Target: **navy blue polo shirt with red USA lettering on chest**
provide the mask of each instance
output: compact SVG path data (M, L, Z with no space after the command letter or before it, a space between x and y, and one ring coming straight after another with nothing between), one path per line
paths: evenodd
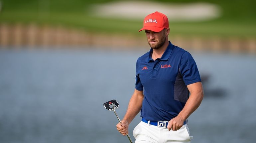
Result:
M138 58L136 86L144 99L141 117L151 121L170 121L189 98L187 85L200 82L192 55L170 41L161 58L152 59L153 49Z

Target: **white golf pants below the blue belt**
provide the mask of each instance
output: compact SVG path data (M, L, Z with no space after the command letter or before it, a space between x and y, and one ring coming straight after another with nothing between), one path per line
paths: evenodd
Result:
M188 124L183 125L179 130L173 131L140 122L133 130L135 143L190 143L193 138L189 134Z

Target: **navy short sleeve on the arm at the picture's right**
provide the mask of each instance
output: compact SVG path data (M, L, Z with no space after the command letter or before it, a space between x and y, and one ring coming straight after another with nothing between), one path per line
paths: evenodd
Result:
M201 81L196 63L189 52L182 55L180 73L186 86Z

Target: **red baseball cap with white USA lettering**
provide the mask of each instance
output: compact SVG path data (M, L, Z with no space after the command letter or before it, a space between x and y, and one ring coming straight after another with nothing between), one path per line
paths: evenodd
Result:
M160 12L154 12L145 17L143 22L143 28L139 30L151 30L154 32L160 32L164 28L169 27L169 21L166 15Z

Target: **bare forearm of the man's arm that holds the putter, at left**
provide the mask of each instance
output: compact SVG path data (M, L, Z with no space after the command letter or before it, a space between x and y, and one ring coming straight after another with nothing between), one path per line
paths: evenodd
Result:
M132 122L134 117L140 112L143 101L143 92L135 90L130 102L128 104L127 112L123 120L126 120L129 124Z

